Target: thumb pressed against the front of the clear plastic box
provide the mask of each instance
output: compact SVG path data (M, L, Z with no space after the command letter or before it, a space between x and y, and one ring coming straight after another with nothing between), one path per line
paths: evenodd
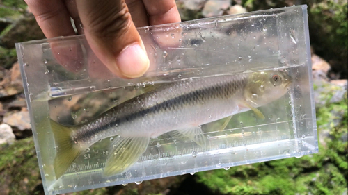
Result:
M117 76L142 76L149 59L125 0L76 2L86 40L97 58Z

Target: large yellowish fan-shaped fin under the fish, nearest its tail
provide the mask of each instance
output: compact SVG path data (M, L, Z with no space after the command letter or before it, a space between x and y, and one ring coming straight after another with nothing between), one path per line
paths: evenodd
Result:
M120 137L113 141L104 168L105 176L127 171L148 147L150 137Z

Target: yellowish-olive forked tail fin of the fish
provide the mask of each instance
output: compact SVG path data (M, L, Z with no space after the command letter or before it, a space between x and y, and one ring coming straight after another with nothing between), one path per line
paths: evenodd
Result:
M58 179L84 150L72 141L72 127L63 126L51 119L51 128L56 141L57 154L54 158L54 172Z

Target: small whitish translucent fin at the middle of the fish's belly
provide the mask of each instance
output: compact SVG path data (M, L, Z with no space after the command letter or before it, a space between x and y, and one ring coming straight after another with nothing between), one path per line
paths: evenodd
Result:
M199 126L180 129L173 132L171 135L174 135L175 137L188 137L189 139L191 139L191 141L196 142L199 146L206 146L206 138L203 135L202 128L200 128Z

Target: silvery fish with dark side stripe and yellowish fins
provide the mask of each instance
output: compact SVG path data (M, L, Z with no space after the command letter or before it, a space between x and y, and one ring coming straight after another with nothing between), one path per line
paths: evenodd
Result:
M164 133L180 135L206 145L200 127L240 112L253 110L284 96L292 78L283 70L254 71L243 74L182 79L156 87L129 99L77 126L63 126L50 119L56 143L56 178L101 139L117 136L104 167L105 176L127 171L145 152L151 138Z

